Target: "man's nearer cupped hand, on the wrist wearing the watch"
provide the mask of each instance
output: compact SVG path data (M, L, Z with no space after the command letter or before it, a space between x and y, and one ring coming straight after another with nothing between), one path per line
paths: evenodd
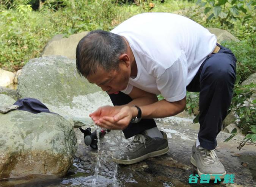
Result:
M96 125L101 128L123 130L126 129L132 120L133 115L136 115L136 108L131 106L124 106L115 116L104 116L100 118Z

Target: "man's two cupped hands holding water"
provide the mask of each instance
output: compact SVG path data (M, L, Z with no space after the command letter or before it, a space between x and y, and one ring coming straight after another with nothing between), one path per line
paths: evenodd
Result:
M132 109L130 106L124 106L123 108L102 106L89 116L101 128L123 130L127 128L132 119Z

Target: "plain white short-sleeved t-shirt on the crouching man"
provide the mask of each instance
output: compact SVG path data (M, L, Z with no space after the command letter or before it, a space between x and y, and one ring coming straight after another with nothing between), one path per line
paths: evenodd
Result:
M186 17L144 13L118 25L112 33L124 36L135 57L138 73L122 92L133 86L179 101L200 65L216 46L216 36Z

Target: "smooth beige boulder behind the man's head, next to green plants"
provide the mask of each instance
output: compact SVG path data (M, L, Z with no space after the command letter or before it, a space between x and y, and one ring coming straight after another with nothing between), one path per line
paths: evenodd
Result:
M72 34L64 37L63 34L54 36L44 47L41 56L62 55L70 59L75 59L77 44L88 32Z

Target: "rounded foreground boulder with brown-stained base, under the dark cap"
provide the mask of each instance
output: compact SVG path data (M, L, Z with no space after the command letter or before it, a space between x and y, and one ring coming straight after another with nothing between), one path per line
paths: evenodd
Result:
M71 123L18 110L0 114L0 122L0 178L67 173L77 149Z

